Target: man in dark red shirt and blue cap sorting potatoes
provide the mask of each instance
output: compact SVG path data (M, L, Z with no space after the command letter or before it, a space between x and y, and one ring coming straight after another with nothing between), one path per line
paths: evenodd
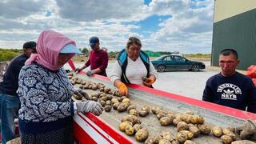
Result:
M99 74L102 76L106 76L106 67L109 61L109 56L106 53L106 50L102 50L99 47L99 39L98 37L91 37L89 39L90 48L90 58L86 62L85 66L81 68L77 68L76 72L80 72L81 70L85 69L86 67L90 66L90 70L87 71L86 75L90 76L92 74Z

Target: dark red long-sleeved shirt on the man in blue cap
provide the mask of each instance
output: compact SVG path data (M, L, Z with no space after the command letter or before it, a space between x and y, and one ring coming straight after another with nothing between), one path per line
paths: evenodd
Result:
M86 62L86 66L90 66L90 70L100 68L102 70L100 75L106 76L106 67L109 61L109 56L105 50L90 51L90 58Z

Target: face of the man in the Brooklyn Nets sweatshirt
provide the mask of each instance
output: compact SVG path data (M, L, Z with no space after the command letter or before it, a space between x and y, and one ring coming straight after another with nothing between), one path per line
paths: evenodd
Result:
M239 64L239 60L234 57L234 54L230 55L220 55L219 66L222 68L222 75L225 77L230 77L235 74L235 68Z

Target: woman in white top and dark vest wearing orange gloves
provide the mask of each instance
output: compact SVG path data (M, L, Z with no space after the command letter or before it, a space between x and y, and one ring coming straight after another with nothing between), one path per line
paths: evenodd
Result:
M118 54L114 62L110 80L118 87L120 95L128 96L126 84L130 83L152 88L158 77L150 58L141 48L142 42L136 37L130 37L126 49Z

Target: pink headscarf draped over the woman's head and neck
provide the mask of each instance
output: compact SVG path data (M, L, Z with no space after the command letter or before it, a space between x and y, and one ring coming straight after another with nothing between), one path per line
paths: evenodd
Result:
M58 70L63 66L58 66L58 54L63 46L70 43L76 46L75 42L67 38L66 35L54 30L44 30L38 37L38 54L31 54L30 58L26 60L25 65L38 62L38 64L50 70ZM73 56L74 54L70 54L70 58Z

